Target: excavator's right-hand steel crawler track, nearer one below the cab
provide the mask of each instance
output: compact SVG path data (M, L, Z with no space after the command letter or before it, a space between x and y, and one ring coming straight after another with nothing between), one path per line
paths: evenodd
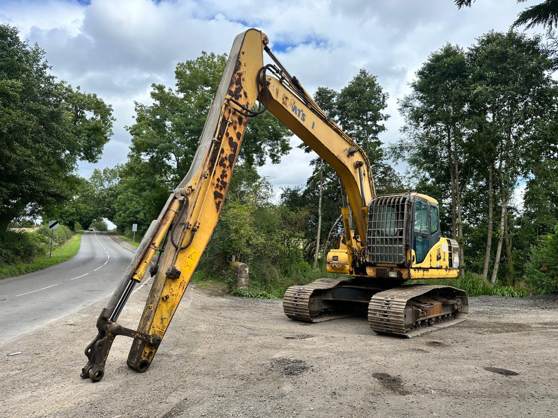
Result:
M440 301L439 305L453 308L440 309L438 304L429 302L428 299L432 296ZM420 299L421 297L426 300ZM444 299L448 302L456 299L458 306L444 303ZM416 306L413 308L413 305ZM430 307L432 312L424 310L424 316L412 318L409 322L408 315L413 313L413 309L427 308L428 305L433 305ZM468 312L468 297L463 290L442 285L399 286L372 297L368 305L368 324L379 334L411 338L462 322Z

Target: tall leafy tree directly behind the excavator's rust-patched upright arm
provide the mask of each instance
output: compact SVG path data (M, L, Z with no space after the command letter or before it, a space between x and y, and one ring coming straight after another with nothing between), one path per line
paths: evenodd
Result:
M127 127L132 145L121 180L126 187L134 187L134 195L124 193L118 198L115 220L120 229L132 224L130 216L156 217L171 189L189 170L226 62L225 54L206 52L180 62L175 89L153 84L153 104L136 103L136 120ZM251 118L237 168L259 167L267 158L280 162L290 150L290 136L290 130L269 112ZM127 201L133 213L126 208Z

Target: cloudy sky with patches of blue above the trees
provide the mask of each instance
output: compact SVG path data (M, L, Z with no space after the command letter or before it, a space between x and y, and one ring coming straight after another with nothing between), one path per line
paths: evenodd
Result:
M452 0L0 0L0 23L39 43L54 75L113 106L117 121L102 158L79 164L79 174L89 177L94 168L126 161L131 137L124 127L133 123L134 101L151 103L153 82L174 87L177 62L201 51L228 53L247 28L266 33L311 94L318 86L340 90L361 68L377 75L391 115L380 138L393 143L403 125L397 100L410 93L408 83L432 51L507 31L517 13L538 2L478 0L458 10ZM311 174L313 155L299 143L293 137L281 164L260 169L276 192L305 184ZM521 199L521 186L516 195Z

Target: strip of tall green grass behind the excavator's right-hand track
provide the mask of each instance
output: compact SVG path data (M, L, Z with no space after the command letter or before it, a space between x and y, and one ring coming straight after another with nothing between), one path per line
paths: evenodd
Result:
M471 297L473 296L504 296L508 298L525 298L529 295L529 291L524 286L504 286L499 283L490 284L488 280L484 280L482 276L474 273L465 273L464 277L448 280L413 280L411 283L423 284L443 284L454 286L455 288L465 290Z

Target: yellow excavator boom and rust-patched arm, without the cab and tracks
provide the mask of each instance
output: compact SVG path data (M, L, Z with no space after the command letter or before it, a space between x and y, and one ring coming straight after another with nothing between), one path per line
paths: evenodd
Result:
M254 29L235 38L192 166L151 223L117 290L99 315L98 335L85 349L88 362L81 377L94 382L103 378L117 335L134 339L129 367L145 372L150 366L219 219L249 117L270 110L335 169L347 192L358 233L365 236L367 202L375 194L368 158L321 111L296 78L288 75L267 43L267 36ZM276 65L264 66L263 51ZM268 76L268 71L277 78ZM252 110L257 100L259 110ZM117 322L118 316L158 250L162 254L151 267L155 278L140 324L137 330L123 327Z

